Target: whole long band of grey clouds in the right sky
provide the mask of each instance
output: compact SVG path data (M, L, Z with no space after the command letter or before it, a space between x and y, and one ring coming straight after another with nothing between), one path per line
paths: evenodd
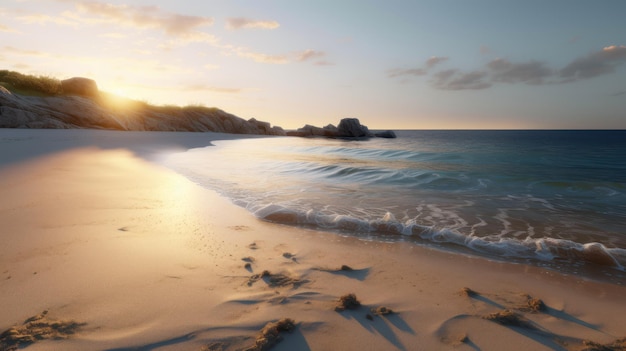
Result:
M431 68L447 61L447 57L433 56L421 67L392 69L390 78L431 75ZM432 74L431 85L436 89L465 90L487 89L495 83L506 84L565 84L597 76L611 74L626 63L626 46L612 45L586 56L576 58L561 69L553 69L546 63L531 60L512 62L497 58L484 67L469 72L446 69Z

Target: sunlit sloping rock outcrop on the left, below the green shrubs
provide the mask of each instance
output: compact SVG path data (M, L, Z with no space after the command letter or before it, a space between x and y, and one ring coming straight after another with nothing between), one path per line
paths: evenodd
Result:
M83 81L84 82L84 81ZM95 82L94 82L95 83ZM105 96L86 97L88 83L76 95L34 97L0 89L0 128L91 128L133 131L220 132L285 135L267 122L248 121L217 108L151 106L127 100L110 103ZM74 89L74 88L70 88ZM82 92L82 93L81 93Z

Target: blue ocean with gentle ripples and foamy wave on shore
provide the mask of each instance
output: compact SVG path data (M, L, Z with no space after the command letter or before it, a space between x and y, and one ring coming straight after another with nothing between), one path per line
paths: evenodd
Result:
M163 162L271 222L626 285L626 131L217 141Z

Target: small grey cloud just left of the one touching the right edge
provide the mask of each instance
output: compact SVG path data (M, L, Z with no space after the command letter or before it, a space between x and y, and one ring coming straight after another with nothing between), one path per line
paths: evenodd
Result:
M491 70L491 80L502 83L527 83L539 85L544 79L553 75L553 70L539 61L512 63L506 59L497 58L487 64Z

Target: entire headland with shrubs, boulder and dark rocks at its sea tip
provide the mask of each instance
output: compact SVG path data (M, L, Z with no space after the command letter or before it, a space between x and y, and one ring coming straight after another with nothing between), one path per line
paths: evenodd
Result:
M254 118L245 120L214 107L155 106L98 89L89 78L56 80L0 71L0 128L109 129L128 131L218 132L367 139L395 138L393 131L371 132L356 118L337 126L305 125L285 131Z

